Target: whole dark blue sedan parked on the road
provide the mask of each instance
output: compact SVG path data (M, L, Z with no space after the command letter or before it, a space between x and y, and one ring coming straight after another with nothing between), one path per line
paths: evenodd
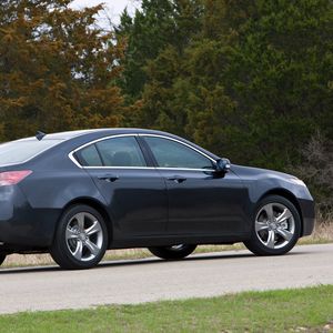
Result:
M89 269L107 249L175 260L236 242L278 255L313 226L297 178L231 164L170 133L39 132L0 145L0 264L49 252L63 269Z

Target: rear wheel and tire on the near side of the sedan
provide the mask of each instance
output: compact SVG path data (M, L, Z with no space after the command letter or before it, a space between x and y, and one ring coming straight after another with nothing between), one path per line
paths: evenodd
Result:
M77 204L63 212L50 254L62 269L91 269L101 261L107 246L108 230L101 214Z

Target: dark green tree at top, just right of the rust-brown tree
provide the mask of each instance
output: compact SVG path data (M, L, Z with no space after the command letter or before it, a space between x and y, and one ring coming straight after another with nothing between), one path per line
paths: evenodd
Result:
M133 18L122 13L117 36L127 41L127 50L120 87L130 101L142 95L148 63L170 46L181 52L200 30L201 10L200 0L143 0Z

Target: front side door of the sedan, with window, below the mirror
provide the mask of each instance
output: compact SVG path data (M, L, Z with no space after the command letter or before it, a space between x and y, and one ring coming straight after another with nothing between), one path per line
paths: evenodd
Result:
M246 191L233 172L169 137L143 135L168 189L169 234L228 235L244 231Z

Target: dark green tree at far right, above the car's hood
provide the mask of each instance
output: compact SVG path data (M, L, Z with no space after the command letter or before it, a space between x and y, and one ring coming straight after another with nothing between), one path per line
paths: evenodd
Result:
M333 135L333 3L230 1L226 14L238 38L224 84L243 121L230 137L243 154L235 158L280 170L297 164L314 129Z

